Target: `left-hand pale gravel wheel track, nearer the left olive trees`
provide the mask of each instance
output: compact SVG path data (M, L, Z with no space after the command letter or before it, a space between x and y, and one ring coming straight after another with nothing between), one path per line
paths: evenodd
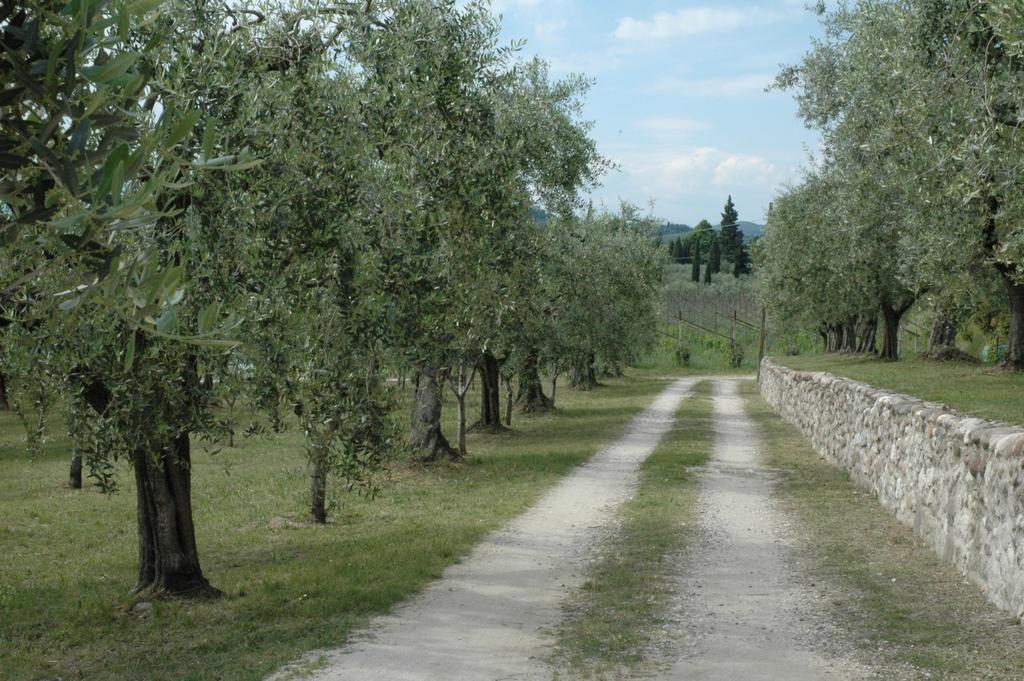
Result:
M640 465L672 426L694 382L672 384L618 440L420 595L376 619L348 647L311 655L328 662L311 678L547 679L543 658L551 640L545 630L558 623L561 601L583 580L589 549L614 522L615 507L633 494Z

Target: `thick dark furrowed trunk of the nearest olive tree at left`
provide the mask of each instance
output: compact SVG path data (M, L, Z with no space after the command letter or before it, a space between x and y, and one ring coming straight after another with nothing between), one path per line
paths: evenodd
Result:
M138 583L135 590L186 596L219 596L203 576L191 512L188 433L160 452L137 451Z

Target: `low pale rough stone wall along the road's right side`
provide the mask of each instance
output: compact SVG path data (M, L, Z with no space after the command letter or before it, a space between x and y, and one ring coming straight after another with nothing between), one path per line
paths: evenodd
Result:
M761 394L995 605L1024 615L1024 428L770 358Z

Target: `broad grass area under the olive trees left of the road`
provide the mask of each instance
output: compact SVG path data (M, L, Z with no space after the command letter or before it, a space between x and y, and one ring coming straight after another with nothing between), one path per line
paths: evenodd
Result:
M461 465L397 466L376 501L338 493L326 526L302 522L307 478L294 429L215 457L197 448L200 554L226 596L156 602L146 614L131 610L128 471L113 496L67 490L67 440L29 459L15 418L2 413L0 677L262 679L308 650L337 646L617 436L667 380L604 384L559 390L557 414L517 417L513 431L471 434ZM450 433L454 411L445 408Z

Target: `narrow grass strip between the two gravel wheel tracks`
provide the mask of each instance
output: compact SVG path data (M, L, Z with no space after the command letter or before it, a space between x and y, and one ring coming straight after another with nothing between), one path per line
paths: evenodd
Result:
M620 526L565 605L556 630L556 668L571 678L620 678L656 659L675 591L671 562L695 527L698 483L688 466L712 451L710 381L683 400L678 420L644 462L636 496Z

